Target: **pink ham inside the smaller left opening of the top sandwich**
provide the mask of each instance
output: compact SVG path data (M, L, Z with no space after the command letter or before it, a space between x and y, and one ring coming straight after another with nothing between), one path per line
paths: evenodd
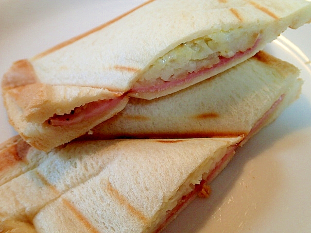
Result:
M78 124L84 120L97 118L107 114L111 109L119 104L124 96L111 100L98 100L86 103L84 106L76 107L70 114L54 115L47 120L52 126L70 126Z

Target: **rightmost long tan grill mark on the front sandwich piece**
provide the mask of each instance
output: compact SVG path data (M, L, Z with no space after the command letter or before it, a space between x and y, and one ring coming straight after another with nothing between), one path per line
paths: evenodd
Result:
M128 209L128 211L130 211L131 214L136 216L140 221L142 221L144 224L147 224L148 221L147 217L144 216L144 214L141 213L134 206L132 206L131 203L128 200L126 200L126 198L122 196L117 189L112 187L112 184L110 182L107 183L107 190L110 193L111 197L118 200L121 205L125 206Z

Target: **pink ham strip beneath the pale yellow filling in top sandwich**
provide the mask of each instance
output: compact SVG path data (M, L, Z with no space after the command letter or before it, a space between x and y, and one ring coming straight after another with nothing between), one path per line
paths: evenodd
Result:
M179 86L179 85L182 85L184 83L189 83L190 81L196 79L197 77L199 77L203 74L207 74L208 72L211 72L212 70L214 70L216 68L225 66L227 63L229 63L233 60L237 60L239 58L242 58L243 56L246 56L246 55L252 53L258 47L259 41L260 41L260 39L257 39L252 48L249 48L248 50L245 50L243 52L239 51L230 58L225 58L223 56L219 56L219 62L217 64L214 64L212 67L203 68L203 69L198 70L198 71L193 71L193 72L185 75L184 78L182 78L182 77L171 78L169 81L164 81L161 78L158 78L154 83L152 83L152 85L146 85L146 86L137 85L137 86L134 86L130 90L130 92L133 92L133 93L139 93L139 92L153 93L153 92L157 92L157 91L167 90L169 88L172 88L174 86Z

